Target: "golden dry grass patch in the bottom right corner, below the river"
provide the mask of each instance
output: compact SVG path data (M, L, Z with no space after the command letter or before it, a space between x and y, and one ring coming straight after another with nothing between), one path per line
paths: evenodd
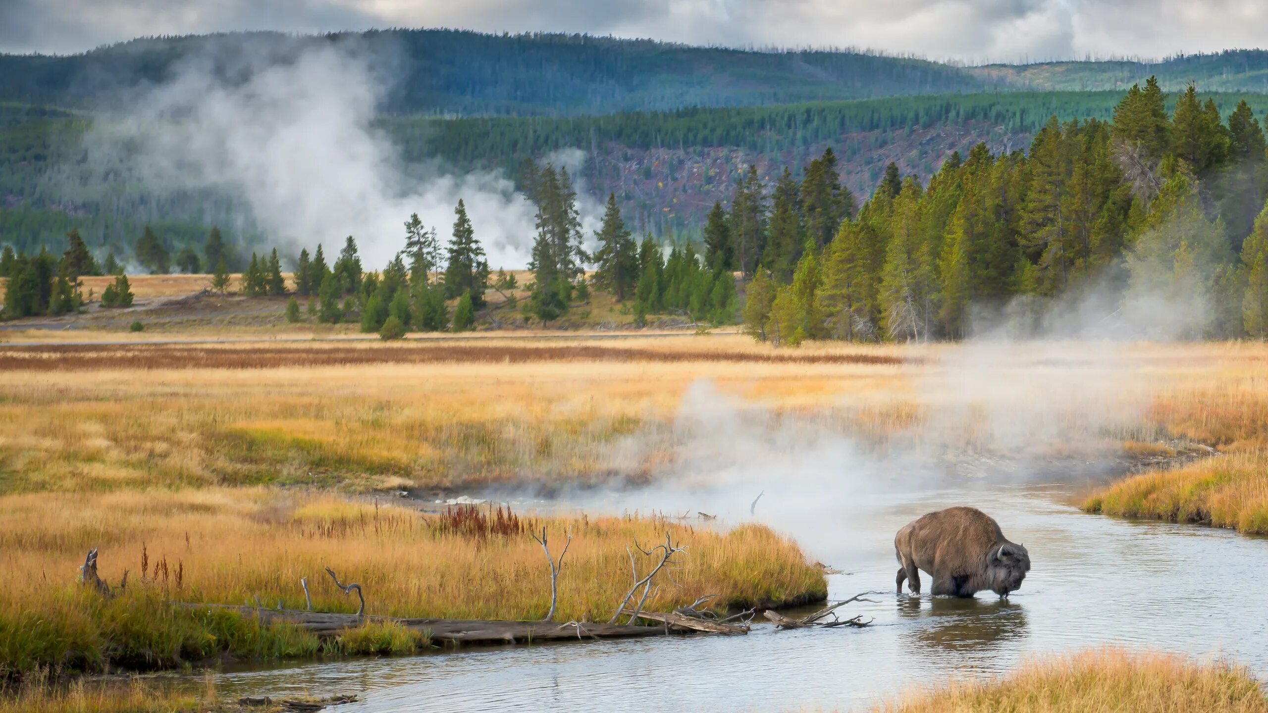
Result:
M954 681L875 713L1264 713L1259 683L1224 661L1092 650L1037 658L1000 679Z

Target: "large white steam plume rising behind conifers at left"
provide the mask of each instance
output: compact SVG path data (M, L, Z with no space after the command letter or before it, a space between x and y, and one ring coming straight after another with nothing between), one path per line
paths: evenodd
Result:
M207 58L190 61L124 115L96 122L85 145L103 171L122 164L151 186L228 194L269 246L321 242L332 255L351 235L366 269L403 247L411 213L446 240L460 198L489 265L525 266L533 206L503 175L404 166L372 124L385 91L374 61L349 47L311 46L293 61L261 58L240 82L217 76Z

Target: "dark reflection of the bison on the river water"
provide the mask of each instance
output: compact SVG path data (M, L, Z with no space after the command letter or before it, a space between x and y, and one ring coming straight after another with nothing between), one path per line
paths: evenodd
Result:
M1008 599L898 598L899 620L912 625L899 642L910 655L927 650L987 653L1026 638L1026 609Z

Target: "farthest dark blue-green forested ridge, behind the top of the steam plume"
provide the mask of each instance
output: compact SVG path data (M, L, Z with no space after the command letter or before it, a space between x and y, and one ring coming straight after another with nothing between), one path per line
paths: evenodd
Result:
M191 65L241 81L336 44L382 67L383 110L568 115L981 91L994 80L862 52L753 52L569 34L393 29L136 39L66 57L0 56L0 101L86 107Z

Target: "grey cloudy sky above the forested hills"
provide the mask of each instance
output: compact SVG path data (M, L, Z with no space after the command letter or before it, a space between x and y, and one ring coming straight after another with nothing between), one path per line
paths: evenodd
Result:
M0 0L0 51L145 34L383 27L588 32L933 60L1163 57L1268 47L1265 0Z

